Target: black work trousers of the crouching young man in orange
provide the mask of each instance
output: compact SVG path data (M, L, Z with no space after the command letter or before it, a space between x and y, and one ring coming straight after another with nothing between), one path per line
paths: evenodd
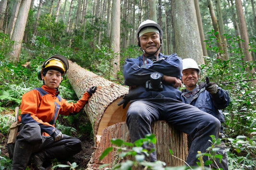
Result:
M51 136L43 136L40 126L36 123L21 125L15 141L12 169L24 169L31 155L37 152L43 151L47 159L66 159L81 149L81 141L78 138L62 135L60 140L54 141Z

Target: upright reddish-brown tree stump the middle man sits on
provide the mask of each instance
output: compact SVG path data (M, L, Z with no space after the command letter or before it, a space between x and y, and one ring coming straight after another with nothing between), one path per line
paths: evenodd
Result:
M184 165L182 160L186 160L188 154L186 135L174 129L166 121L154 122L151 127L153 129L152 133L155 134L157 138L155 148L158 160L165 162L166 166L169 167ZM98 147L96 147L90 162L87 164L86 170L98 170L100 165L106 163L110 164L109 168L111 168L122 161L122 159L118 157L119 152L116 149L99 161L99 157L103 151L107 147L113 147L110 143L110 139L112 138L120 138L125 142L131 142L129 130L125 122L117 123L103 129L101 141L98 143ZM173 151L174 156L180 159L172 157L169 149ZM128 157L128 159L133 158Z

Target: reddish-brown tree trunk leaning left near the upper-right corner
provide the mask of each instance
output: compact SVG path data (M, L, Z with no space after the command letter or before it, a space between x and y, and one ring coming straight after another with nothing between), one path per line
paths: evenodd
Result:
M244 48L244 56L246 61L253 61L253 57L251 55L251 51L249 49L251 48L249 45L249 36L248 31L245 23L244 18L244 11L241 0L235 0L236 10L237 10L237 16L239 20L239 26L241 30L241 38L244 40L242 42L243 48ZM249 70L252 74L255 73L255 68L252 68L252 70ZM256 81L254 82L256 84Z

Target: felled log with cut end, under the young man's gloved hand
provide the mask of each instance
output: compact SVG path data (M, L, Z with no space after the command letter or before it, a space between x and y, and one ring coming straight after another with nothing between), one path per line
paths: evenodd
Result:
M88 87L98 87L84 109L93 125L95 137L100 138L104 128L125 121L128 107L122 109L117 103L128 93L128 88L85 70L76 63L69 63L67 78L78 98L83 96Z

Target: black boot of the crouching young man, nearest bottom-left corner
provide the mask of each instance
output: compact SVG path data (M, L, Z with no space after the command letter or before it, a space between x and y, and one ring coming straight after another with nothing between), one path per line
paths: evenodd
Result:
M16 141L13 151L12 170L25 170L32 154L31 144L22 141Z

